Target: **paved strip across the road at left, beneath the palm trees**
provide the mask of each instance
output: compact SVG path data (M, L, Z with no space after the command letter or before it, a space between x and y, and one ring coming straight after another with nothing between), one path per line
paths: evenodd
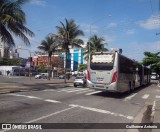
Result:
M56 88L59 86L69 87L73 84L73 79L34 79L31 80L27 77L20 78L6 78L0 77L0 94L20 92L26 90L41 90L46 88Z

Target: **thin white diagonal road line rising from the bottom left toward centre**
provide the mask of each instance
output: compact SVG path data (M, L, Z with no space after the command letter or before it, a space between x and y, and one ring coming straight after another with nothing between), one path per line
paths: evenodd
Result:
M68 111L68 110L71 110L73 108L76 108L75 106L72 106L70 108L66 108L64 110L60 110L60 111L57 111L57 112L54 112L54 113L51 113L51 114L48 114L48 115L45 115L45 116L42 116L42 117L39 117L37 119L33 119L31 121L28 121L28 122L25 122L25 123L33 123L33 122L36 122L36 121L39 121L39 120L42 120L42 119L45 119L45 118L48 118L48 117L51 117L51 116L54 116L54 115L57 115L57 114L60 114L62 112L65 112L65 111Z

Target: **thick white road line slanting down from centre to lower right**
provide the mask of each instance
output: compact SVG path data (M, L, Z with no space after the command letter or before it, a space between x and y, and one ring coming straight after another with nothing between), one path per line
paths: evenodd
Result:
M103 113L103 114L123 117L123 118L127 118L129 120L133 120L134 119L133 116L126 116L126 115L123 115L123 114L118 114L118 113L110 112L110 111L107 111L107 110L102 110L102 109L97 109L97 108L91 108L91 107L85 107L85 106L74 105L74 104L70 104L69 106L80 107L82 109L86 109L86 110L90 110L90 111L94 111L94 112L98 112L98 113Z

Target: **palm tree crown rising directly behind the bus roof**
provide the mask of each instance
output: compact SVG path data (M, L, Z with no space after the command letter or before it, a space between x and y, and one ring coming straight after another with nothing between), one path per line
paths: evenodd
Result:
M85 59L88 60L91 52L107 51L108 49L104 47L107 43L104 43L104 41L102 37L98 37L97 35L91 36L85 48Z

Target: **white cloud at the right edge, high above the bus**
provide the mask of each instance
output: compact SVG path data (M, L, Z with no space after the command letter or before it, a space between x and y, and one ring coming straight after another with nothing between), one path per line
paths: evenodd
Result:
M159 29L160 28L160 16L151 16L147 20L138 21L137 24L145 29Z

